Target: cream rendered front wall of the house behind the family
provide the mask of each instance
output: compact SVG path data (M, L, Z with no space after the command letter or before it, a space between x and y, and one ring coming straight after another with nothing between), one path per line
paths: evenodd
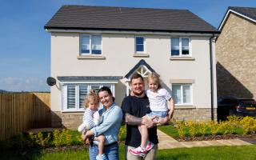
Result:
M51 76L125 76L144 59L168 87L170 79L194 79L194 106L210 108L210 36L186 36L192 45L192 61L170 60L170 35L143 36L148 58L133 56L134 34L102 34L102 55L106 59L78 59L78 33L51 33ZM121 105L126 86L118 82L115 87L116 102ZM51 110L61 110L58 85L51 87Z

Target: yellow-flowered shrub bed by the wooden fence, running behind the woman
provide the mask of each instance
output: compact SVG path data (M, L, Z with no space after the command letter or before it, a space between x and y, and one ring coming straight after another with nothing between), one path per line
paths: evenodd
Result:
M126 138L126 127L122 126L119 140ZM76 130L54 130L53 132L20 133L0 142L0 150L27 150L31 148L47 150L82 150L86 147L81 133Z

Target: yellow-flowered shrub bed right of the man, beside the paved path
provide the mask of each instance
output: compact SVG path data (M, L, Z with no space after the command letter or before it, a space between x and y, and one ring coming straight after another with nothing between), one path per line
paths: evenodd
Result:
M178 141L255 138L256 118L230 116L225 122L171 121L170 126L158 129Z

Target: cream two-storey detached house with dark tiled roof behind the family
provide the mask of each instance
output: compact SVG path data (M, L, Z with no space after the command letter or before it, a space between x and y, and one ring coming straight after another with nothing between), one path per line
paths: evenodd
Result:
M76 128L90 89L109 86L119 106L130 76L157 72L175 101L174 118L216 117L213 26L189 10L62 6L51 34L52 126ZM211 65L213 64L213 65Z

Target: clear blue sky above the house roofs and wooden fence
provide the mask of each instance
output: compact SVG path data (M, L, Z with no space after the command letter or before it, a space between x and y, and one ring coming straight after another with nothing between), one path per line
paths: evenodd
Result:
M256 0L0 0L0 90L50 91L50 33L46 22L62 5L190 10L218 28L228 6Z

